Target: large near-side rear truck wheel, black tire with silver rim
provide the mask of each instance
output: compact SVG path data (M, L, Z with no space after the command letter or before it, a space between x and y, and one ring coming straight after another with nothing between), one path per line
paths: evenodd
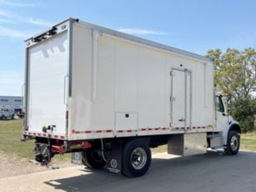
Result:
M130 140L123 148L122 174L128 177L143 176L149 170L151 152L144 139Z

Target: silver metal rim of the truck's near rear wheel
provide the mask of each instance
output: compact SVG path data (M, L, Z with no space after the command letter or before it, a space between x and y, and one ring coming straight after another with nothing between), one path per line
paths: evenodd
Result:
M142 169L147 162L147 153L144 148L135 148L131 152L130 163L136 169Z

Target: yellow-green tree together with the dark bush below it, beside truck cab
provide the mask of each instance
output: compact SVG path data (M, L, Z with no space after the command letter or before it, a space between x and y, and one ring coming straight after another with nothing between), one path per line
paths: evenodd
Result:
M206 57L213 60L217 91L233 98L231 115L239 121L243 132L254 129L256 99L256 51L249 48L239 51L211 49Z

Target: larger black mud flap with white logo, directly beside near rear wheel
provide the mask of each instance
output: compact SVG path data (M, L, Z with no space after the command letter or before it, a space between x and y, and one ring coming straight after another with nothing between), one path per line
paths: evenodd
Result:
M107 158L107 171L121 174L122 142L114 141L111 146L111 155Z

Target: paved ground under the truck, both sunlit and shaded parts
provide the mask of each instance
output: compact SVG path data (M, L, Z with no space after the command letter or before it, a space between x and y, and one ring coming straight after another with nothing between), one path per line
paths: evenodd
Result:
M0 191L255 192L256 152L239 152L235 157L208 152L178 158L159 153L148 173L135 179L73 166L2 178Z

